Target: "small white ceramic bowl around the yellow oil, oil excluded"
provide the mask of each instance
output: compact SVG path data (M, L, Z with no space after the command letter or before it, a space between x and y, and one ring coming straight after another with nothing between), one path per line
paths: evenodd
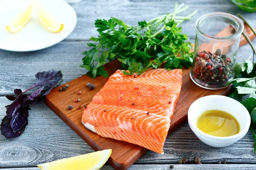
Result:
M240 125L239 133L233 136L218 137L199 130L196 126L198 116L204 111L209 110L221 110L234 116ZM197 99L189 107L188 122L192 131L202 142L212 147L225 147L244 137L250 127L250 114L241 103L230 97L218 95L204 96Z

